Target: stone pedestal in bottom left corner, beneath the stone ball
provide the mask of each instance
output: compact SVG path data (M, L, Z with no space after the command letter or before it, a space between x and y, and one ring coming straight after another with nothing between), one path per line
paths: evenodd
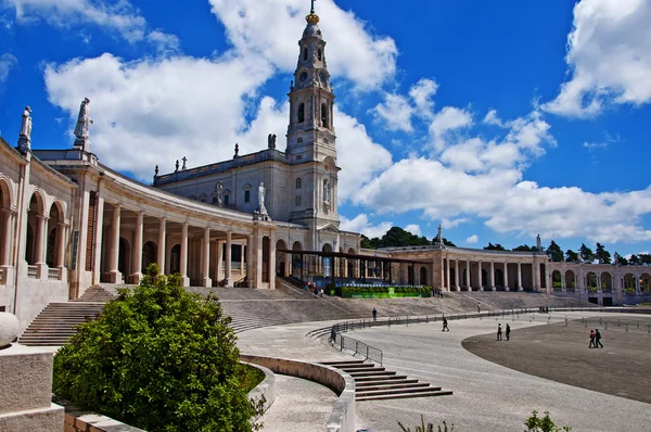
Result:
M0 431L63 431L63 407L51 402L52 357L18 344L0 350Z

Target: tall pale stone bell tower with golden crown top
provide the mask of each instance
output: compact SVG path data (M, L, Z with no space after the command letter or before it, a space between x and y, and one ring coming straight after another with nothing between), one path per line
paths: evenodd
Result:
M297 185L292 221L307 224L315 232L327 225L339 228L337 173L333 125L334 93L326 61L326 41L312 8L298 41L298 62L290 98L288 162ZM301 177L298 179L298 177ZM298 188L298 181L302 187Z

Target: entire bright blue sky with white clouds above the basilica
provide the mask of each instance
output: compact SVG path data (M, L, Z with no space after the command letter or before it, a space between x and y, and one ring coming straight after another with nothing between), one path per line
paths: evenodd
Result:
M342 227L651 250L651 1L317 0ZM0 130L142 181L284 136L308 0L0 0ZM279 148L284 139L279 139Z

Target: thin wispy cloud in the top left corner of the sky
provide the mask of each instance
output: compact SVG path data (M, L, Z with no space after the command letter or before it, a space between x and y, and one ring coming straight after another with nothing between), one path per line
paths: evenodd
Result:
M59 28L93 24L129 42L150 41L161 52L178 49L176 36L150 31L146 20L128 0L4 0L1 7L14 9L18 24L39 20ZM82 37L90 40L88 35Z

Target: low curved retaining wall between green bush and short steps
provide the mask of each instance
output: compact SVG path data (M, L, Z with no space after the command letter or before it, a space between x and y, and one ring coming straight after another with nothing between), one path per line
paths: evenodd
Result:
M276 373L303 378L326 385L339 394L328 419L328 432L355 432L355 381L335 368L285 358L240 355L242 361L260 365Z

